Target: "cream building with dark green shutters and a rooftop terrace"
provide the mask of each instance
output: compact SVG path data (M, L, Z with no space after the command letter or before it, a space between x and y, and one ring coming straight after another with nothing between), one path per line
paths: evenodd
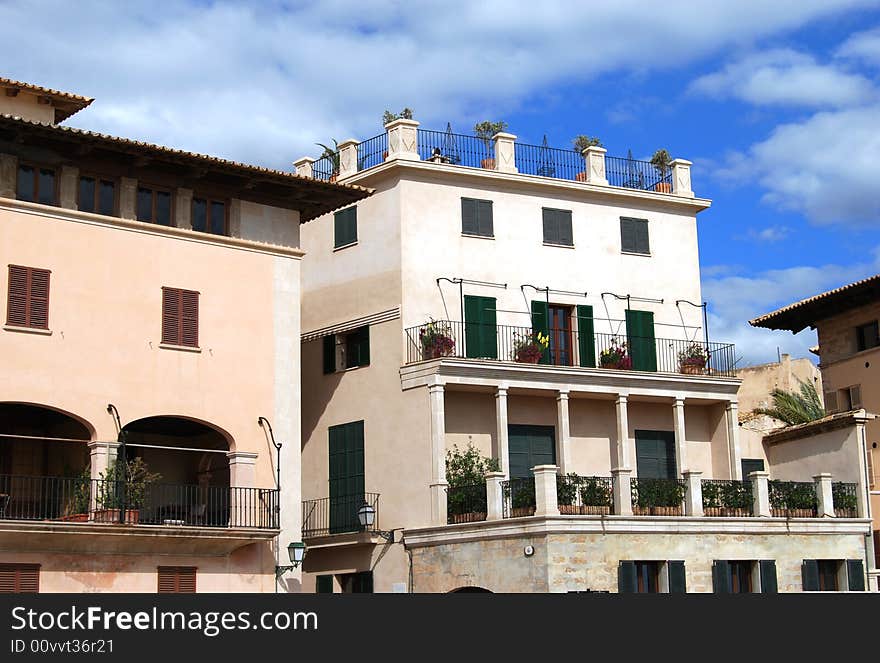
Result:
M865 585L855 487L744 464L690 165L407 119L296 163L375 190L302 229L306 591Z

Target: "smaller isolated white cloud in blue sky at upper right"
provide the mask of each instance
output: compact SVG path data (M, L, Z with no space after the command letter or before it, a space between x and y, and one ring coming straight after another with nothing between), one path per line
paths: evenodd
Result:
M787 49L748 55L698 78L690 90L756 105L842 107L877 98L872 82L864 76Z

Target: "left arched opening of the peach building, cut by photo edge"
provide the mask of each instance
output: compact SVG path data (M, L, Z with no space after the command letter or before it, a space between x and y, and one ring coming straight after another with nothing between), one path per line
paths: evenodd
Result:
M54 519L87 508L92 431L54 408L0 403L0 518Z

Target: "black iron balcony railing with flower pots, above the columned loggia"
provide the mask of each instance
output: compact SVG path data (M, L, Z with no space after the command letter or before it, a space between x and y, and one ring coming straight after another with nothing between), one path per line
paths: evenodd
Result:
M657 373L734 375L736 353L732 344L549 331L550 347L542 353L531 343L535 332L532 327L434 321L406 330L406 363L462 357Z

